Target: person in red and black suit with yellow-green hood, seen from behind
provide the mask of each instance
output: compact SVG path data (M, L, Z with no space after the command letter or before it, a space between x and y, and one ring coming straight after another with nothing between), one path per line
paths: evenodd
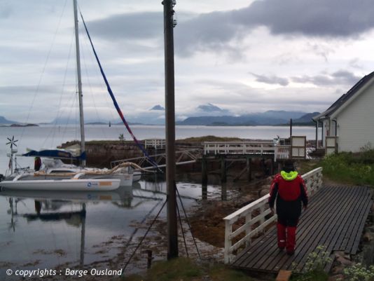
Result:
M301 204L307 209L307 189L302 177L296 172L293 162L286 160L282 171L275 175L270 186L269 206L274 212L277 200L277 239L279 249L286 248L292 255L296 247L296 228L301 215Z

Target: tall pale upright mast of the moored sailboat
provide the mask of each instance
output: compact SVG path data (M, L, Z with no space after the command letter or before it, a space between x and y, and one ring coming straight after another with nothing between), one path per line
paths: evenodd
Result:
M84 130L84 118L83 118L83 93L82 93L82 78L81 78L81 56L79 53L79 34L78 34L78 11L76 0L74 2L74 27L76 34L76 74L78 79L78 101L79 101L79 123L81 127L81 153L85 152L85 130ZM81 162L82 166L85 166L85 160Z

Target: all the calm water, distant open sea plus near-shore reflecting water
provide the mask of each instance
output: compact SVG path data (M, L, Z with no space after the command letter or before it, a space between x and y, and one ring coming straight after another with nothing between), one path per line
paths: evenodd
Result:
M87 126L86 139L118 139L130 135L122 126ZM162 126L132 126L138 139L164 138ZM294 135L314 138L314 128L293 128ZM0 173L8 166L7 137L19 139L18 150L53 148L62 142L78 139L75 126L52 128L0 128ZM246 139L288 137L286 127L205 127L180 126L176 138L216 135ZM18 157L22 166L33 166L32 158ZM177 181L183 204L189 208L201 198L200 179L184 176ZM112 259L120 246L139 240L145 228L139 224L154 216L165 201L165 181L142 179L127 189L109 192L0 192L0 280L19 280L6 275L6 270L92 267ZM230 192L228 191L228 198ZM209 185L209 196L221 196L221 186ZM165 210L161 217L165 217ZM133 238L132 238L133 236ZM120 268L109 268L119 270ZM46 279L46 278L45 278Z

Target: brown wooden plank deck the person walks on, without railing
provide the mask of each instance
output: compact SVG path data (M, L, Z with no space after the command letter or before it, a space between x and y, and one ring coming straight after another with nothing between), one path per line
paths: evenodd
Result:
M356 254L371 205L370 191L364 186L323 186L310 198L308 209L300 217L293 256L278 249L277 231L272 226L242 250L231 266L271 273L280 269L301 272L308 255L319 245L324 245L330 256L334 251ZM326 271L331 265L326 265Z

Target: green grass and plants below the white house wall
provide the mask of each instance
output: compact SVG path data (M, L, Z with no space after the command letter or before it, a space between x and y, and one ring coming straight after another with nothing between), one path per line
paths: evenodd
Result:
M324 177L344 184L374 186L374 149L336 153L321 161Z

